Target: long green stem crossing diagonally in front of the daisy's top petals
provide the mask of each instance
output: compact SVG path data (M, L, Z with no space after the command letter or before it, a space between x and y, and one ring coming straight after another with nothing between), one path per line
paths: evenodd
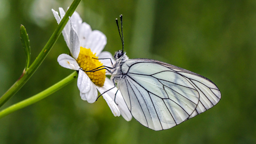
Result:
M74 0L74 2L70 5L67 13L61 20L58 27L55 29L54 33L52 34L51 38L44 46L43 50L39 53L36 60L32 63L32 65L28 68L27 71L25 71L25 70L23 71L23 73L22 73L21 77L18 79L18 81L16 81L12 85L12 87L10 87L10 89L0 98L0 107L2 107L4 105L4 103L12 97L12 95L17 93L20 90L20 88L28 81L28 79L35 73L36 69L41 65L41 63L45 59L46 55L50 52L53 45L59 38L63 28L66 26L66 24L69 20L69 17L71 17L71 15L75 12L76 7L78 6L78 4L80 2L81 2L81 0Z

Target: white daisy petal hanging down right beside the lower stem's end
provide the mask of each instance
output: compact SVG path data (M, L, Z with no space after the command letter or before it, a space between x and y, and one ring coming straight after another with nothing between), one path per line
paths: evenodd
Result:
M84 73L83 70L79 69L77 78L77 87L80 92L87 93L91 90L91 79ZM83 98L82 98L83 99Z

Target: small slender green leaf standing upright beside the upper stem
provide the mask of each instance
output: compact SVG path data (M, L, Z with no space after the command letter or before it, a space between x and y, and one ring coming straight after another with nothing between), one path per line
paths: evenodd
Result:
M29 63L30 63L31 50L30 50L30 45L29 45L28 34L23 25L20 26L20 39L21 39L21 43L22 43L23 49L25 50L25 54L26 54L25 71L27 71L27 69L29 67Z

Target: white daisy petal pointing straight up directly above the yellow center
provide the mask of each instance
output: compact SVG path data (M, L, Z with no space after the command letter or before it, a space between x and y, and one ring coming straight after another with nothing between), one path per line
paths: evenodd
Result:
M80 46L87 48L86 42L88 40L89 35L92 32L92 28L86 22L83 22L79 31L80 33L78 34L78 37L80 41Z

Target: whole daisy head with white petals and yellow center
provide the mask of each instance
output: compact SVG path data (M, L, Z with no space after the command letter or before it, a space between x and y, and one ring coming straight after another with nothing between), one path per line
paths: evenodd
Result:
M57 11L52 10L58 23L60 23L65 15L65 11L61 7L59 8L59 11L60 17ZM79 71L77 86L80 91L80 96L83 100L93 103L98 98L98 91L103 93L114 87L113 82L106 77L106 74L108 73L106 73L105 69L97 70L95 72L85 72L101 66L112 67L109 58L113 62L114 59L111 53L102 52L107 44L107 37L99 30L92 31L90 25L82 22L82 19L77 12L74 12L72 17L69 18L66 27L62 31L62 35L70 50L70 55L59 55L58 62L62 67ZM122 115L126 121L130 121L132 115L124 102L121 92L117 92L116 102L114 101L116 91L117 88L115 87L104 93L102 97L108 103L114 116Z

